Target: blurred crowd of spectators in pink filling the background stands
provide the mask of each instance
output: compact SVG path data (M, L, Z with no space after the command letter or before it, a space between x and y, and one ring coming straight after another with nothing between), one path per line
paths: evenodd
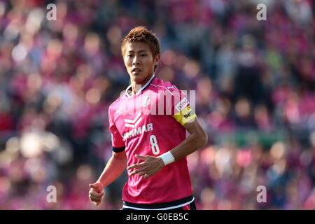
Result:
M120 209L126 173L99 207L88 185L111 157L120 40L137 25L162 43L158 78L196 90L197 209L315 209L314 16L311 0L0 0L0 209Z

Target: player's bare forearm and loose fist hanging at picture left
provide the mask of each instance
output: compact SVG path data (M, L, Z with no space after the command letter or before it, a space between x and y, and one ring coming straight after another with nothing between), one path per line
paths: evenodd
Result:
M103 189L109 186L113 181L116 181L116 179L123 174L126 166L127 157L125 151L120 153L113 152L99 179L95 183L90 184L90 201L99 205L104 195Z

